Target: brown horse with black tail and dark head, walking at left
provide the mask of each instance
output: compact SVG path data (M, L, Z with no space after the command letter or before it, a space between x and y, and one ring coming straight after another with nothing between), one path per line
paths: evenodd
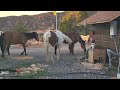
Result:
M1 35L1 51L2 51L2 57L5 57L4 53L7 49L8 55L10 55L9 48L10 45L14 44L21 44L24 48L24 51L21 53L23 55L27 55L26 53L26 42L29 39L36 39L39 41L38 34L36 32L12 32L12 31L6 31Z

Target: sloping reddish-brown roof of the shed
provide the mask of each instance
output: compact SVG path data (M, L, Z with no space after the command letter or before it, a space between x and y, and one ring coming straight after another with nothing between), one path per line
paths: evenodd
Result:
M97 11L96 14L88 17L77 25L97 24L110 22L120 16L120 11Z

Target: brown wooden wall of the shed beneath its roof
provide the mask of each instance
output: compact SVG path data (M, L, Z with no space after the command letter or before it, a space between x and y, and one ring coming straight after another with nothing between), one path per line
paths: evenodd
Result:
M120 25L118 23L117 33L120 36ZM94 26L95 35L93 39L95 40L96 48L109 48L115 50L114 39L110 36L110 23L96 24ZM118 38L116 38L117 42L119 42ZM118 46L119 43L117 43Z

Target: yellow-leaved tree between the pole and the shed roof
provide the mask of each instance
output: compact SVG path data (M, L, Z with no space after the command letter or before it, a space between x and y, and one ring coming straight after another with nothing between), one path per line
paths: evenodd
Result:
M66 11L60 22L60 31L75 31L75 26L80 20L80 11Z

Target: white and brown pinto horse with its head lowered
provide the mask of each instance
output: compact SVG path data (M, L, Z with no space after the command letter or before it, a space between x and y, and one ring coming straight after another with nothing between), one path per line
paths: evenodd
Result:
M67 42L69 45L72 44L72 40L59 30L56 30L55 32L50 30L47 31L43 35L43 40L44 40L44 45L46 47L46 52L47 52L47 61L53 61L53 62L54 62L52 57L53 47L57 45L57 47L59 48L59 51L57 53L57 60L60 60L60 45L63 42Z

